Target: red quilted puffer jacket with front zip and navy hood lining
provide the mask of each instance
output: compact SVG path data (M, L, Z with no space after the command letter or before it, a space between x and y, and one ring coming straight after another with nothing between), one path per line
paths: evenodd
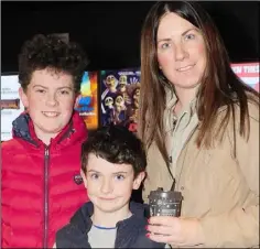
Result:
M80 149L87 129L78 113L46 147L28 113L2 143L2 248L51 248L55 232L88 201Z

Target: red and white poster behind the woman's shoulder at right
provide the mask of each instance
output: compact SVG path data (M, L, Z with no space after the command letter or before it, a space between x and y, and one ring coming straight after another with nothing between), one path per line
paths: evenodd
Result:
M232 71L259 93L259 62L231 64Z

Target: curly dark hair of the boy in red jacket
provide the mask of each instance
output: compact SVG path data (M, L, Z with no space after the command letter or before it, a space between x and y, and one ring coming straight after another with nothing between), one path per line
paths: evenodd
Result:
M47 68L72 75L75 93L78 93L87 64L78 44L66 43L55 35L36 34L23 44L19 54L19 82L25 91L33 72Z

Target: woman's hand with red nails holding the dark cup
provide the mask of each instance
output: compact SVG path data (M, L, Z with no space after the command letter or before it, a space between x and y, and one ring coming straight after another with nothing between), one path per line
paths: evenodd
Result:
M172 247L192 247L205 241L196 218L153 216L149 219L147 230L151 240L170 243Z

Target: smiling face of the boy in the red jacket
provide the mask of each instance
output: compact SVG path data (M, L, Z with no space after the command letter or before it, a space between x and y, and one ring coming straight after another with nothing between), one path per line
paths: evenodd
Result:
M73 76L35 71L26 93L20 88L19 94L39 137L54 137L68 123L75 101Z

